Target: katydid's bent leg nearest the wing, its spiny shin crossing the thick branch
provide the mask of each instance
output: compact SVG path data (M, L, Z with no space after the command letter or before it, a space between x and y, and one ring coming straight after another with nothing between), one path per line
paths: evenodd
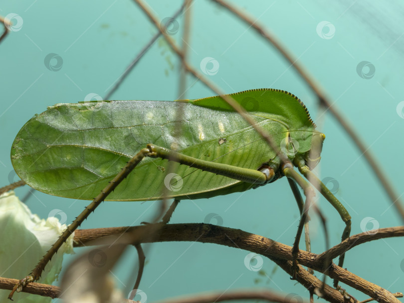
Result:
M304 203L304 207L302 210L302 214L301 214L301 218L300 218L300 222L299 222L299 227L297 228L297 233L296 233L296 238L295 238L295 242L293 243L293 248L292 248L292 258L293 258L293 266L292 266L292 271L293 271L293 275L292 275L292 280L296 280L296 274L299 271L299 266L298 266L298 257L299 257L299 242L300 242L300 237L302 235L303 232L303 227L304 224L306 223L307 220L307 213L309 211L310 208L310 204L313 200L313 198L315 197L315 192L313 187L310 186L310 184L303 179L303 177L298 174L294 169L291 163L285 163L282 164L282 171L283 174L288 177L293 179L294 181L296 181L297 184L299 184L299 186L303 189L303 192L306 196L306 201Z

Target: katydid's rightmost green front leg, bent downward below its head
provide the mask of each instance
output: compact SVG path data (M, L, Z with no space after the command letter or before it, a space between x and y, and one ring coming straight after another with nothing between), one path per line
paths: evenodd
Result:
M342 233L341 241L349 238L351 234L351 216L342 203L332 194L332 192L324 185L323 182L309 169L304 163L304 159L296 157L294 163L297 165L299 171L316 187L316 189L331 203L332 206L338 211L342 220L345 222L345 228ZM338 266L344 265L345 253L342 254L338 261ZM327 266L329 266L327 264ZM334 287L337 288L338 280L334 280Z

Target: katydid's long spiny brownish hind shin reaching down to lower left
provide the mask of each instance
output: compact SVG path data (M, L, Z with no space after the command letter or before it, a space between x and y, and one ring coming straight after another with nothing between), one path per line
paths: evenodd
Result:
M62 235L57 239L57 241L52 245L52 247L46 252L43 258L39 261L33 271L29 276L20 280L16 285L14 285L11 293L8 295L8 299L12 300L12 296L15 291L20 292L22 288L28 283L37 281L46 264L50 261L52 256L59 250L60 246L67 240L67 238L80 226L80 224L89 216L91 212L101 204L102 201L118 186L118 184L125 179L128 174L139 164L139 162L145 156L152 156L153 154L148 149L143 149L138 152L133 158L131 158L128 163L121 169L121 171L115 176L115 178L108 183L108 185L101 190L101 193L81 212L80 215L65 229Z

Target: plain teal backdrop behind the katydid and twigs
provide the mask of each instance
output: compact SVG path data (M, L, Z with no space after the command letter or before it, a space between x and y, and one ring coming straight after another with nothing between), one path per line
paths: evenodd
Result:
M400 105L404 100L404 5L398 0L232 2L273 32L306 67L333 100L333 106L370 147L396 192L402 195L404 113ZM173 15L181 3L149 1L160 19ZM12 12L21 16L23 25L0 44L1 186L13 178L9 152L15 135L27 120L55 103L83 101L90 93L105 96L156 32L132 1L9 1L0 5L1 15ZM179 31L172 37L180 44L183 16L177 21ZM320 37L331 34L327 28L320 35L316 31L322 21L335 27L335 34L329 39ZM336 196L350 212L352 234L377 227L372 227L372 222L366 224L367 217L373 218L380 228L402 224L361 152L328 111L318 110L315 95L259 34L222 7L197 0L192 6L189 44L189 61L200 71L203 58L217 60L217 73L206 77L226 93L278 88L292 92L306 104L327 137L318 173L322 179L336 180L328 186L336 186ZM44 59L49 53L63 59L60 70L46 68ZM369 61L375 67L370 79L362 78L357 72L362 61ZM179 60L160 38L111 99L175 100L179 90L178 69ZM362 69L365 74L370 71L369 66ZM187 78L187 88L185 98L215 95L192 76ZM22 197L27 190L23 187L16 193ZM46 218L53 209L62 210L67 223L81 212L85 203L37 191L27 201L32 212L40 217ZM156 202L104 202L81 228L138 225L151 220L156 206ZM344 223L322 197L319 206L327 217L331 245L336 245ZM204 222L210 213L217 214L217 220L212 219L210 223L222 222L223 226L288 245L293 243L299 218L296 202L283 178L241 194L183 201L171 222ZM323 230L318 217L315 214L311 217L312 251L321 253L325 248ZM285 295L298 294L304 299L309 296L268 259L263 258L260 272L248 270L244 265L246 251L188 242L156 243L145 250L147 264L140 289L149 302L240 288L265 288ZM66 257L65 264L71 260L72 257ZM128 277L136 260L132 248L113 270L118 287L134 284L128 282ZM383 239L356 247L347 253L344 267L393 293L402 292L403 239ZM30 270L27 269L27 274ZM318 273L316 276L321 277ZM367 299L356 290L346 288L358 300Z

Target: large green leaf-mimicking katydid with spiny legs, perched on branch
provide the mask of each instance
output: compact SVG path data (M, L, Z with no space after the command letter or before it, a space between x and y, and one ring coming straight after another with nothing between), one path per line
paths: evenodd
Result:
M74 199L91 200L101 195L101 202L110 193L107 199L114 201L157 200L162 198L162 184L172 189L167 194L170 198L208 198L245 191L286 175L294 181L290 182L292 189L295 182L304 189L308 201L311 186L293 170L293 163L337 209L346 223L342 239L349 237L350 215L311 172L320 160L325 136L315 130L304 104L294 95L275 89L230 96L271 135L290 162L282 162L277 152L219 96L179 100L184 111L180 138L174 137L176 102L56 104L19 131L12 145L11 161L26 184ZM171 172L167 159L175 161ZM125 171L129 173L135 166L124 178ZM181 186L167 183L169 173L181 180L182 184L176 184ZM39 278L64 236L67 238L88 216L89 209L99 204L93 203L84 211L86 214L83 212L70 225L59 244L55 243L25 282ZM302 205L300 211L302 219L293 246L296 268L300 234L306 221ZM340 265L342 262L343 256Z

